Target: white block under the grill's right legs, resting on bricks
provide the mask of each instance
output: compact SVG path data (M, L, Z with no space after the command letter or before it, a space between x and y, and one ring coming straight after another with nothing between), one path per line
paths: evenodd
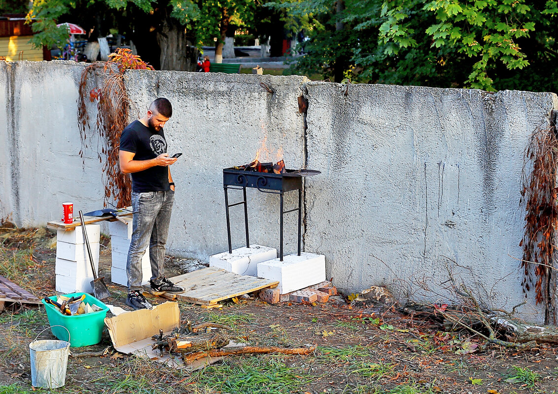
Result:
M304 289L325 280L325 256L302 252L258 264L258 277L279 281L281 294Z

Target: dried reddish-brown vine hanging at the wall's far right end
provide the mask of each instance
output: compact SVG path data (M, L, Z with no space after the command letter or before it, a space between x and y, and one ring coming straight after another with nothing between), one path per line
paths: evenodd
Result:
M556 323L552 283L556 280L558 138L554 111L552 119L549 127L533 132L525 151L521 190L526 213L525 234L519 246L523 248L523 291L529 292L534 285L536 303L542 303L545 308L545 321ZM527 176L529 165L532 170Z

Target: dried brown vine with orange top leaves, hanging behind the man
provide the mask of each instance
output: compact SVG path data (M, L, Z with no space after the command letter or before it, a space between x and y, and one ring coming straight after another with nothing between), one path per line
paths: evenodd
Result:
M124 85L124 72L129 68L153 70L153 67L142 62L140 57L132 55L132 52L126 48L118 48L115 53L109 55L109 58L107 62L92 63L81 72L78 98L80 155L84 157L87 148L86 130L90 129L87 102L97 101L95 128L99 132L102 144L98 152L99 161L103 162L104 159L104 206L114 202L113 205L124 207L131 204L132 191L130 177L121 173L118 163L120 135L128 125L132 110L132 102Z

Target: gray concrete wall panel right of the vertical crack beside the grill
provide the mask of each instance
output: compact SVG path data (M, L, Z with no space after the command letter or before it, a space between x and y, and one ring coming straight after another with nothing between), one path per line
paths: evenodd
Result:
M523 151L556 95L309 83L305 249L344 290L445 298L449 265L484 301L522 301ZM426 291L427 287L432 291ZM531 301L531 300L530 300ZM533 312L532 305L523 312Z

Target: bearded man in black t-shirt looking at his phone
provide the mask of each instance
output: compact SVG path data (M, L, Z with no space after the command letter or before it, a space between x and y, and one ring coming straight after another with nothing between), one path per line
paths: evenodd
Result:
M137 211L126 264L126 304L134 309L153 308L143 296L141 285L141 260L147 246L151 260L151 294L184 291L166 279L163 271L175 189L169 167L177 160L167 154L163 134L163 126L171 116L171 103L160 97L151 103L147 114L129 124L120 137L120 170L132 174L132 208Z

